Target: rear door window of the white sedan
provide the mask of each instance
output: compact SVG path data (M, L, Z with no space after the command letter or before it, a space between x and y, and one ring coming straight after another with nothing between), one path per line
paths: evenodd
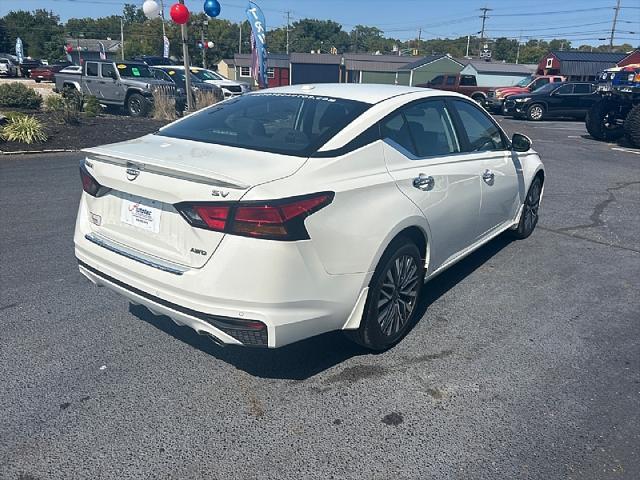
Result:
M410 105L403 113L419 157L460 152L451 117L442 100Z

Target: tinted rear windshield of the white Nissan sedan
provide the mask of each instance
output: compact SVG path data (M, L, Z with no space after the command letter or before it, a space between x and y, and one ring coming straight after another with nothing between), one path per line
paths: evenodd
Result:
M249 94L201 110L158 135L308 157L370 106L314 95Z

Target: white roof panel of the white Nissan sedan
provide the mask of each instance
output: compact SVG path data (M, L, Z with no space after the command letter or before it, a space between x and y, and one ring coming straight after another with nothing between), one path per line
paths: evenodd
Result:
M255 93L285 93L292 95L315 95L320 97L342 98L345 100L355 100L365 103L379 103L389 98L409 93L422 93L424 97L429 96L451 96L461 95L444 90L433 90L430 88L404 87L400 85L377 85L361 83L315 83L306 85L290 85L287 87L269 88Z

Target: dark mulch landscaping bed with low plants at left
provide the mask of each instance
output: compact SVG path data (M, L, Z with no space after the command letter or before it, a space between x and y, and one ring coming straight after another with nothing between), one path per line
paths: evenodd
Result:
M82 116L79 125L66 125L50 113L24 112L38 118L44 125L48 139L44 143L27 145L0 140L0 152L37 152L42 150L80 150L105 143L122 142L153 133L167 121L134 118L124 115Z

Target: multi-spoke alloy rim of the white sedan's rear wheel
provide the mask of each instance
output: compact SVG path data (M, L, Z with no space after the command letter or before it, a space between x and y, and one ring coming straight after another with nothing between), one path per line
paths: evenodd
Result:
M418 295L419 267L415 258L396 258L384 275L378 295L378 324L387 337L402 331L411 317Z

